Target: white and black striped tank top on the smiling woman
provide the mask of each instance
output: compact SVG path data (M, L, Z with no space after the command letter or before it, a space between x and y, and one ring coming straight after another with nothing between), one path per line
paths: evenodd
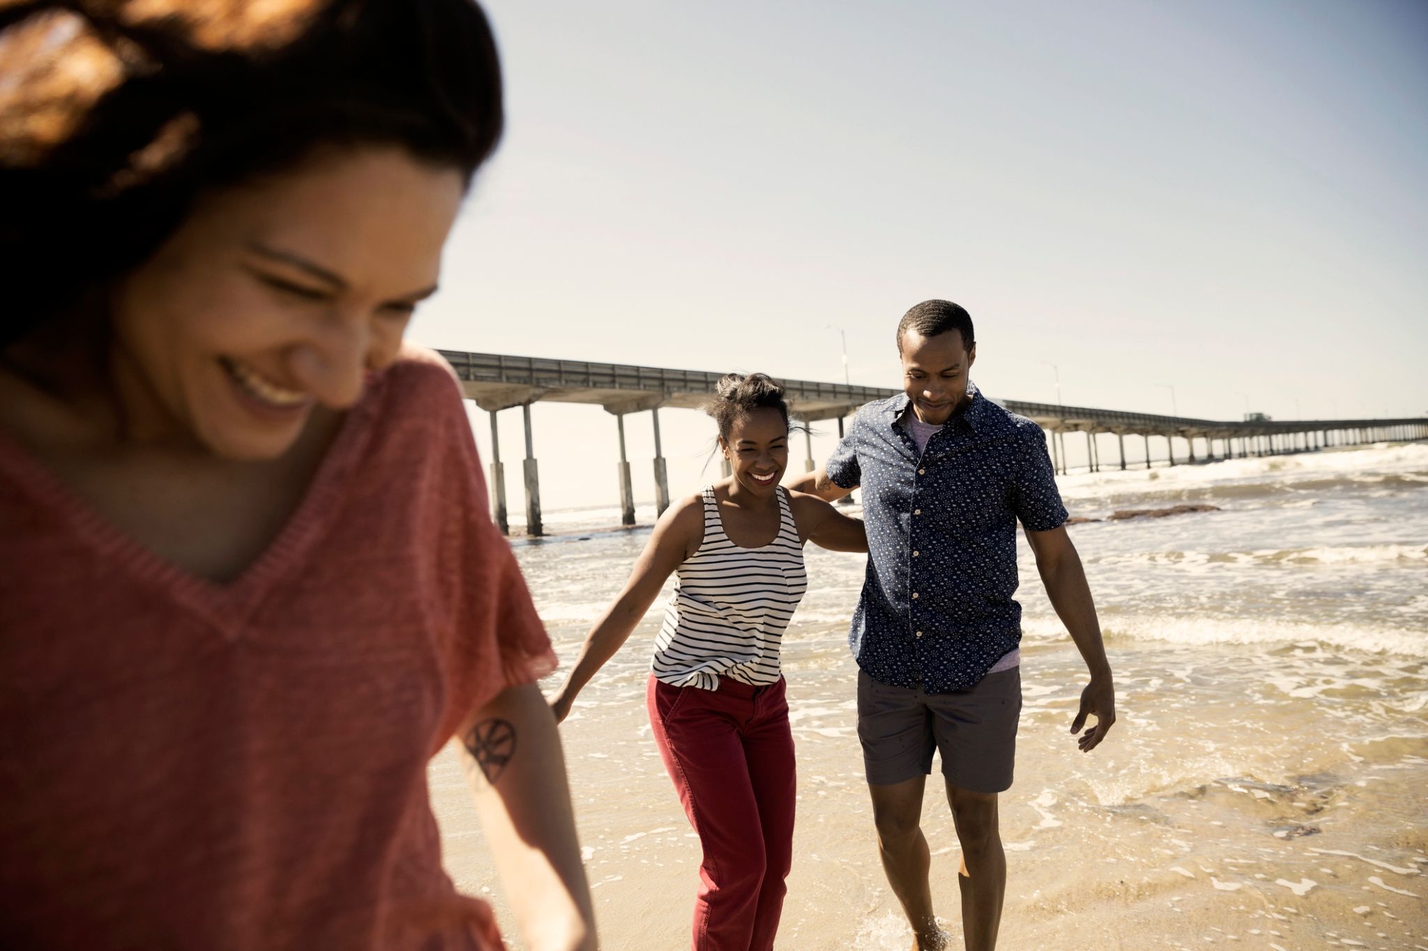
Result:
M650 670L675 687L718 690L724 674L777 683L784 629L808 587L788 490L778 488L778 538L740 548L724 533L714 486L704 486L704 540L680 565Z

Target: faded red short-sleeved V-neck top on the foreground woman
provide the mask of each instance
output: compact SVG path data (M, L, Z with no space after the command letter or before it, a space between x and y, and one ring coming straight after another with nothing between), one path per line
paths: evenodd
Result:
M377 375L231 583L0 432L0 947L501 947L427 760L554 664L433 354Z

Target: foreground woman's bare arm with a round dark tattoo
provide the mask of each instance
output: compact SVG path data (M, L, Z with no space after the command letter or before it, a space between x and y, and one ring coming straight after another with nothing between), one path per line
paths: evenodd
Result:
M508 687L457 734L461 764L526 947L593 951L595 915L580 863L565 761L534 683Z

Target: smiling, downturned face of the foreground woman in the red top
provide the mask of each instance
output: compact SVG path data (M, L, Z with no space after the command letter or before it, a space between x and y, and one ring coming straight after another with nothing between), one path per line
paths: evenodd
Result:
M458 171L373 147L203 200L114 294L130 429L273 459L314 408L350 408L436 289L461 194Z

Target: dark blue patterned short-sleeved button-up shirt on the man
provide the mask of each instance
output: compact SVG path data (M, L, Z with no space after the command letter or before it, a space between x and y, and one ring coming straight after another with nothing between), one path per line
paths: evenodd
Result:
M1017 520L1045 532L1067 519L1041 426L967 392L921 456L907 395L863 406L825 466L861 486L868 529L853 656L874 680L927 693L974 686L1017 647Z

